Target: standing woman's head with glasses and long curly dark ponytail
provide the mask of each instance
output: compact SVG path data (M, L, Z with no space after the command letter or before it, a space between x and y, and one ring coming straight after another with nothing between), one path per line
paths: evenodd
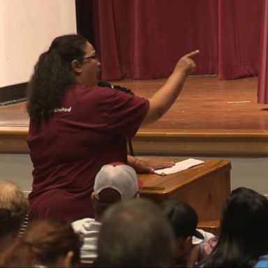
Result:
M96 85L100 66L94 47L83 36L55 38L40 55L29 82L27 112L31 119L50 117L69 85Z

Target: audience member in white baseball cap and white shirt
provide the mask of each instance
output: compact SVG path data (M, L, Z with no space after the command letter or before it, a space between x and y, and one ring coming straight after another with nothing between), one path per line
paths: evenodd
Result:
M129 165L103 165L96 175L94 192L91 194L95 219L83 218L72 223L75 232L84 235L84 244L80 251L82 262L90 263L97 257L98 232L103 212L115 202L134 198L138 190L137 174Z

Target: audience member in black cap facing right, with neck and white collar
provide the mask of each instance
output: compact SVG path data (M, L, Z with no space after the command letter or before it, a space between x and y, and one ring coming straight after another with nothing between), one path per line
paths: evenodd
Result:
M161 203L161 207L176 236L173 267L195 267L202 258L201 244L214 237L214 234L197 229L198 214L190 204L181 200L167 200Z

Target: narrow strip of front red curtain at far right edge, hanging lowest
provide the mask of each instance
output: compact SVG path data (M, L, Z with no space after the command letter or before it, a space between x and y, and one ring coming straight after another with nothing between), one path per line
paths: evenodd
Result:
M258 103L268 103L268 0L263 3Z

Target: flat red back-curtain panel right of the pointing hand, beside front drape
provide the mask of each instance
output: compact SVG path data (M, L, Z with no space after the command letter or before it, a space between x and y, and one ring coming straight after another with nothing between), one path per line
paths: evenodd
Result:
M219 1L220 79L258 75L262 1Z

